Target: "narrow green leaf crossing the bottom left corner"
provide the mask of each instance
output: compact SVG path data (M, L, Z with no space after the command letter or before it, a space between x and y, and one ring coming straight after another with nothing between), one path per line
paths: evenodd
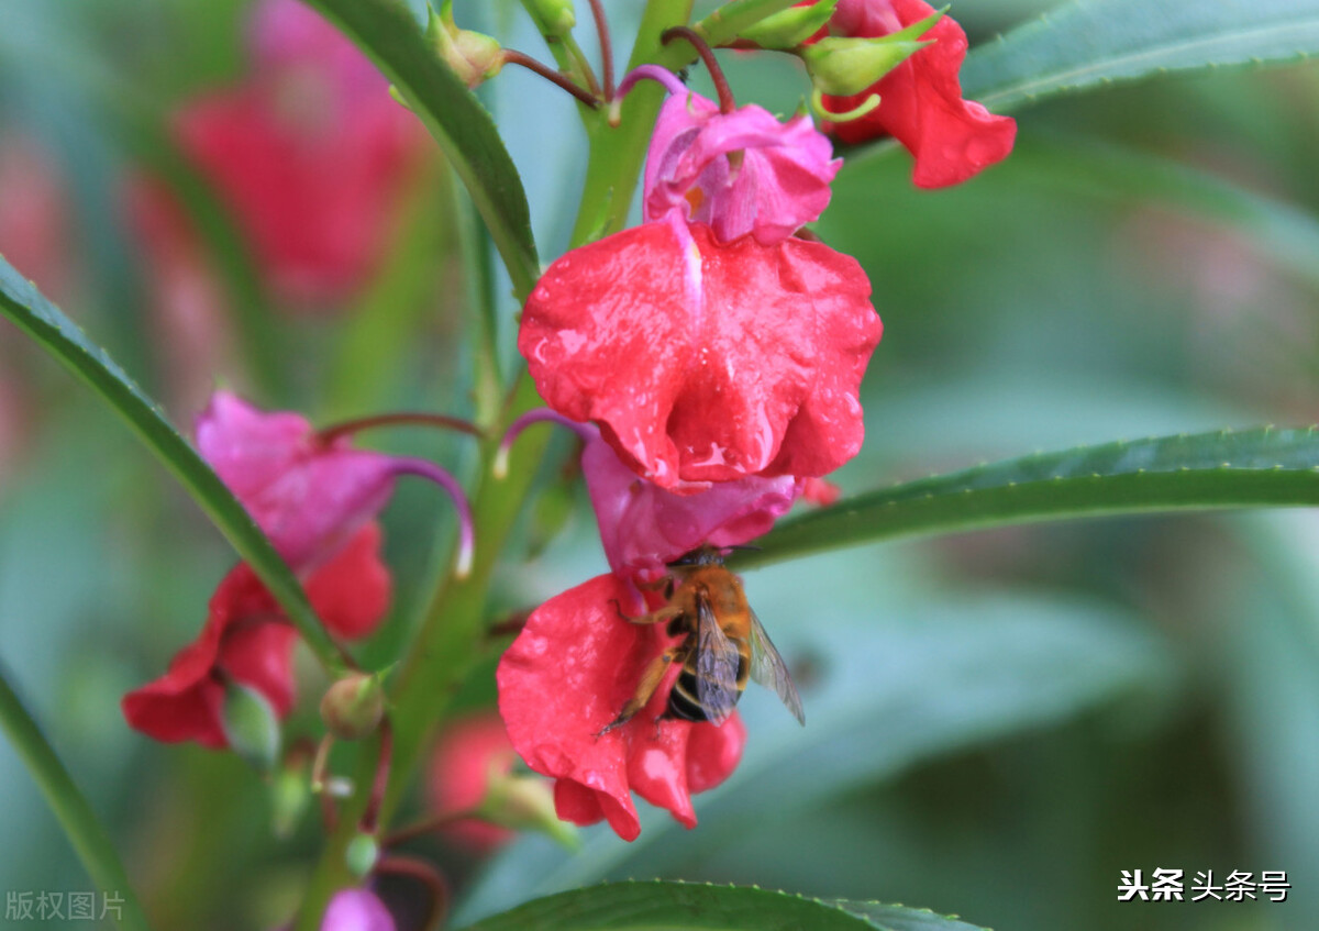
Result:
M133 894L109 835L87 804L87 799L78 791L78 786L41 733L41 728L9 686L3 670L0 670L0 728L22 758L41 794L46 796L46 803L59 819L65 835L92 881L107 897L117 897L113 899L119 906L115 923L124 931L146 931L150 927L146 914Z

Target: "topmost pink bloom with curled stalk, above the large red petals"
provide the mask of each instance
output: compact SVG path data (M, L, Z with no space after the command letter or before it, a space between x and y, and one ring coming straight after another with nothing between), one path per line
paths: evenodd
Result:
M721 113L715 102L656 66L629 74L620 94L640 78L660 80L671 92L646 156L646 220L677 210L725 243L752 233L772 245L828 206L830 183L843 161L831 158L828 138L810 117L780 123L754 104Z

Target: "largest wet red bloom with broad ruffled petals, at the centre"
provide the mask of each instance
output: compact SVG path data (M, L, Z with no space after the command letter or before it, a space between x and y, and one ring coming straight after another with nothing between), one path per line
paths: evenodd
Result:
M550 265L518 349L551 407L661 488L819 476L861 447L869 294L827 245L721 244L670 214Z

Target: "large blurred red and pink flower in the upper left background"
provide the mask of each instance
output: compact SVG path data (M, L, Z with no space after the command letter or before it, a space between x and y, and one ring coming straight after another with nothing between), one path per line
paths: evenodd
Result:
M379 264L425 133L375 66L305 4L261 4L252 44L251 75L189 102L174 135L276 293L297 307L334 302ZM158 239L150 245L166 265L177 249Z

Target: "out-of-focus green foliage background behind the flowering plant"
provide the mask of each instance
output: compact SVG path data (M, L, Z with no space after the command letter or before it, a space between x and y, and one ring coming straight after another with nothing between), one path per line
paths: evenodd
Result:
M464 25L545 57L517 4L456 5ZM975 44L1046 5L964 0L952 13ZM634 5L607 7L625 44ZM181 425L215 384L322 423L393 409L470 415L472 282L462 200L438 156L398 211L393 258L342 306L280 307L260 276L224 261L224 236L207 249L228 311L199 323L153 302L125 190L177 154L171 112L241 79L245 15L237 0L5 0L0 249ZM594 54L588 32L582 42ZM805 92L785 58L725 65L741 102L786 112ZM708 92L706 75L692 82ZM584 170L571 102L513 70L483 96L553 258ZM864 389L867 446L839 483L859 491L1075 443L1310 423L1319 71L1162 80L1017 116L1013 156L959 189L913 190L893 149L859 154L839 177L818 232L864 264L885 323ZM516 307L496 289L512 364ZM460 440L372 442L472 467ZM547 467L549 495L562 493L555 476ZM572 502L558 535L551 508L533 509L492 615L603 570L584 496ZM364 650L377 663L415 622L448 533L427 489L405 487L385 522L398 597ZM274 839L268 787L241 762L154 744L119 712L123 692L195 636L231 562L100 402L0 324L0 661L162 928L274 927L318 849L314 819ZM632 845L590 829L576 855L530 837L488 862L422 845L450 872L459 918L658 876L904 902L998 931L1319 927L1314 514L889 543L762 570L747 586L799 670L809 727L748 692L747 757L696 799L694 832L656 815ZM493 661L466 707L492 703ZM302 698L290 733L314 723L315 688ZM88 889L4 745L0 798L0 890ZM1117 902L1121 870L1155 868L1183 869L1187 899L1202 870L1219 884L1232 870L1286 870L1293 889L1285 903Z

